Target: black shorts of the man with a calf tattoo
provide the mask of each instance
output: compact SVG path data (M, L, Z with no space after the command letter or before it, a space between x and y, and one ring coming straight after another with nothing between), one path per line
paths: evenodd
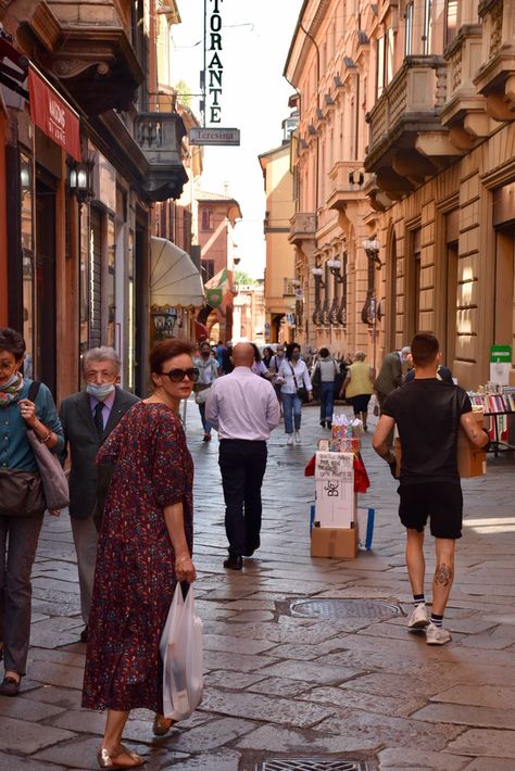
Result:
M460 482L401 484L399 517L405 528L424 531L429 517L431 535L462 538L463 495Z

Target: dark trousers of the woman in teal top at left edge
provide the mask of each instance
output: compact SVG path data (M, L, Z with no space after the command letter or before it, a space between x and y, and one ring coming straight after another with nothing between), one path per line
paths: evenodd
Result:
M0 517L0 642L5 670L25 674L33 570L43 515Z

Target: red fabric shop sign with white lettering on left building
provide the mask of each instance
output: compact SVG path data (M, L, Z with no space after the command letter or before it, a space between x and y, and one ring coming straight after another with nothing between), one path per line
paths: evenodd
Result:
M76 161L80 156L80 131L77 114L34 67L28 68L30 117L47 137L60 144Z

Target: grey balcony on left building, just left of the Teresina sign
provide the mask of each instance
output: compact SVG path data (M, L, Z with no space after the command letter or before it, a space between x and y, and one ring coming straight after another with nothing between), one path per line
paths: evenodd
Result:
M135 119L136 144L148 163L146 189L152 201L177 199L188 179L181 161L186 134L178 113L139 113Z

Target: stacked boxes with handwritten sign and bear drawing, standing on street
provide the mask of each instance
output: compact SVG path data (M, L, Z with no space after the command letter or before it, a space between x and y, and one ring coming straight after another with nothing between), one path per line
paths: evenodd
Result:
M352 453L316 453L312 557L353 559L357 553L356 494Z

